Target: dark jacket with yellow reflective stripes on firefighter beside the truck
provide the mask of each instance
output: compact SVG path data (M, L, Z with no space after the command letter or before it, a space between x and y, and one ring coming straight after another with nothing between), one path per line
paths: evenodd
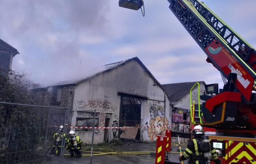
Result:
M218 159L217 152L215 149L211 150L212 160L214 160L215 164L220 164L220 160ZM192 141L188 142L188 147L185 149L184 154L181 156L182 160L189 159L189 163L191 164L205 164L206 160L204 159L204 153L200 152L198 148L198 140L195 138Z

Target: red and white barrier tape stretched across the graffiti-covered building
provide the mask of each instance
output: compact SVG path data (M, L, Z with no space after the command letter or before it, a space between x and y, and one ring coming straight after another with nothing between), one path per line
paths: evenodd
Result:
M92 126L67 126L67 128L77 128L77 129L131 129L131 128L138 128L138 129L151 129L151 128L161 128L161 127L171 127L174 125L161 125L161 126L141 126L141 127L92 127ZM49 126L60 128L60 126Z

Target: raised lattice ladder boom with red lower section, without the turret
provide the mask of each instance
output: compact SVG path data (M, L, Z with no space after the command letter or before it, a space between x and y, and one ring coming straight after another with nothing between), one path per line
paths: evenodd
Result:
M256 78L256 53L218 16L197 0L168 0L170 10L221 73L237 74L237 88L250 101Z

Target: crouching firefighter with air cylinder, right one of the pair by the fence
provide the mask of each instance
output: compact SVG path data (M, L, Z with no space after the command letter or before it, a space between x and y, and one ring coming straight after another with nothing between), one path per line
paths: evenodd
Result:
M69 151L71 157L77 155L78 157L82 157L82 140L80 140L79 136L75 135L75 132L71 130L69 133L69 139L67 139L67 150Z

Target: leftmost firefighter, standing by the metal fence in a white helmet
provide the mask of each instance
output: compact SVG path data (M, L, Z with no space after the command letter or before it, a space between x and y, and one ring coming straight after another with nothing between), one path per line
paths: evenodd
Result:
M65 137L65 133L62 132L62 129L63 129L63 126L61 125L58 132L53 135L54 144L52 146L52 154L54 154L54 155L60 154L61 143ZM60 135L58 136L59 133L60 133Z

